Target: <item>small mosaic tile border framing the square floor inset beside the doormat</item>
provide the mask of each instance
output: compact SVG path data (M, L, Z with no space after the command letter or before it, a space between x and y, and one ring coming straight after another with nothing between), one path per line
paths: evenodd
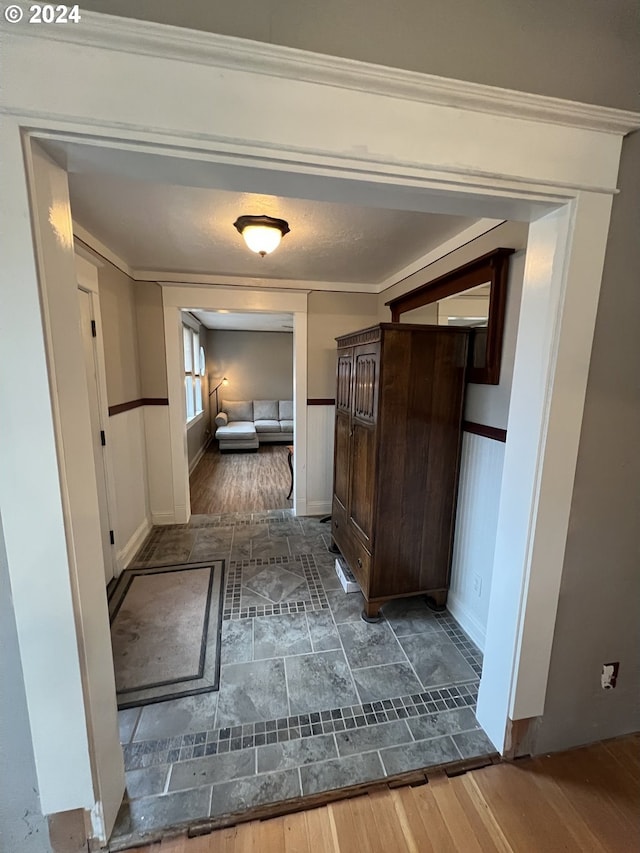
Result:
M241 607L243 569L274 565L286 567L289 563L300 564L304 579L307 582L310 601L281 601L278 604L258 604L251 607ZM293 557L256 557L253 559L229 561L222 610L223 621L229 621L230 619L253 619L256 616L280 616L284 613L304 613L307 610L328 609L329 602L313 554L296 554Z

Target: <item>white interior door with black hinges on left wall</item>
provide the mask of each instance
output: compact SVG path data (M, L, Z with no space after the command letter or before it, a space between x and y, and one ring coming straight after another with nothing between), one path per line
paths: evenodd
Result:
M115 554L113 546L113 527L109 518L109 501L107 499L107 476L105 470L105 432L100 417L100 397L98 392L98 360L95 347L95 320L93 312L92 293L78 288L80 303L80 326L82 331L82 346L87 375L87 391L89 394L89 413L91 415L91 431L93 444L93 460L96 469L96 484L98 487L98 505L100 508L100 534L102 553L104 555L105 583L114 576Z

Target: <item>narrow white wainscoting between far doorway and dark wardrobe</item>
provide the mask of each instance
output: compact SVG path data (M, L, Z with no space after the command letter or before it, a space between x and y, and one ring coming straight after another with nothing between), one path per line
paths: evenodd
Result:
M307 406L307 513L331 512L335 406Z

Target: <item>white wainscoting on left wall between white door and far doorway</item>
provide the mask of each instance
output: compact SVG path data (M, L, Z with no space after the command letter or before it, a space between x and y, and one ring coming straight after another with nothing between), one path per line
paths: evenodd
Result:
M166 406L160 408L166 411ZM109 418L113 477L118 507L115 530L118 569L136 547L149 518L144 409L135 408Z

